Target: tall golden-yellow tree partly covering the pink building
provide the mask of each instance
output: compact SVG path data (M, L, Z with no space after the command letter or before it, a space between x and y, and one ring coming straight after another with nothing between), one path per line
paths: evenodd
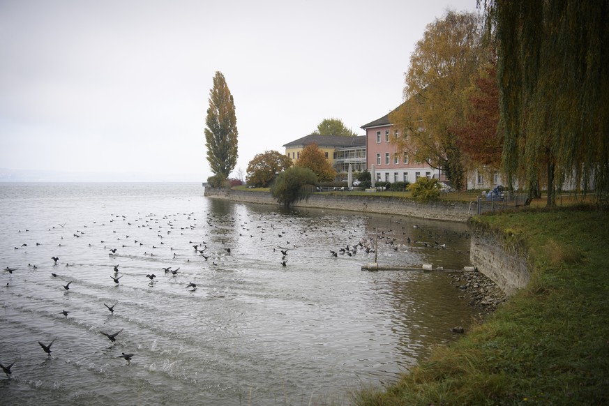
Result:
M481 24L474 13L449 11L428 24L416 43L405 75L406 103L389 114L398 151L442 169L460 189L465 170L456 128L463 126L465 91L479 67Z

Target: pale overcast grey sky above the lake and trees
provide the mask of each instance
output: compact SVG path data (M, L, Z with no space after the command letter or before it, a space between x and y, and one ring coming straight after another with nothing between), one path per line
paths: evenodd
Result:
M476 0L0 0L0 175L205 181L216 70L235 175L326 118L363 135L403 101L409 55L447 8Z

